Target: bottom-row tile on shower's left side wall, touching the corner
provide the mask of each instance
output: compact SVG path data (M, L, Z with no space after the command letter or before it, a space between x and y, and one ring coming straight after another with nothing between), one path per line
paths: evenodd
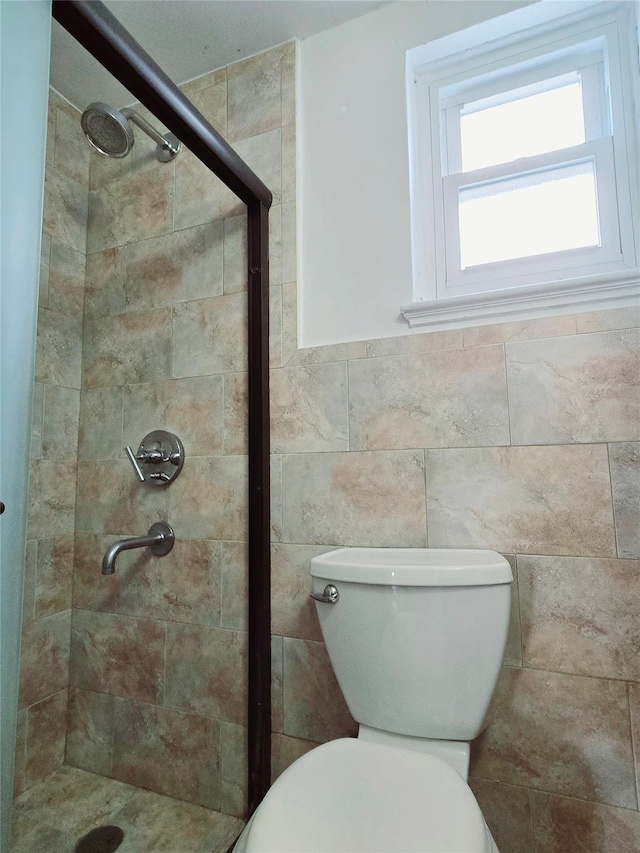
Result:
M66 689L47 696L29 708L25 771L27 786L43 781L62 767L66 729Z

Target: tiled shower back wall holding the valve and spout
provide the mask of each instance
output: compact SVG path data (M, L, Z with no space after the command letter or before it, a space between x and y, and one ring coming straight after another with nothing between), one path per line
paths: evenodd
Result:
M183 87L274 193L278 303L294 59L290 45ZM91 158L66 759L243 815L246 217L188 151L160 164L136 135L130 157ZM123 447L159 428L185 466L141 486ZM115 538L158 520L175 530L168 556L132 551L100 574Z

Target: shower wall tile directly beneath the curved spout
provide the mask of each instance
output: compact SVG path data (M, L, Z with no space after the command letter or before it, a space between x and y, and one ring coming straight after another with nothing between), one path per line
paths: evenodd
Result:
M220 543L177 539L161 559L130 551L118 569L118 613L220 624Z

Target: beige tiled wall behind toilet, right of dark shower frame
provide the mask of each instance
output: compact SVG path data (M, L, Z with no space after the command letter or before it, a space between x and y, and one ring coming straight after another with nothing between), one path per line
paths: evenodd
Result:
M284 298L290 342L293 284ZM640 849L639 321L629 309L297 352L288 343L272 370L275 393L284 385L296 400L272 407L284 734L352 731L306 597L315 553L505 553L516 570L510 634L471 784L510 853ZM299 364L318 366L315 386ZM329 379L341 365L346 400ZM349 452L325 452L318 425L333 436L345 421Z

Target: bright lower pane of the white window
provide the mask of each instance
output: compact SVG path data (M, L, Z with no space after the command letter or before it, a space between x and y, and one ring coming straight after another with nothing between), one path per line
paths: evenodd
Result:
M600 245L592 161L461 187L458 200L462 269Z

